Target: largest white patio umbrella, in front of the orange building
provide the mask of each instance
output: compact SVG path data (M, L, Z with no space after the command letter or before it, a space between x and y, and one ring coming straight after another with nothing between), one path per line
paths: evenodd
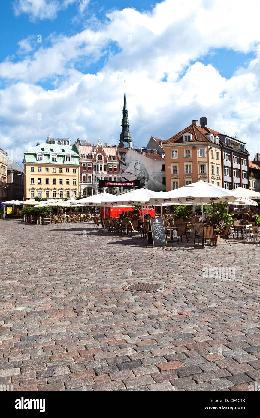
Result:
M163 197L152 197L151 204L201 204L203 217L203 204L210 204L213 202L232 202L236 204L241 202L243 204L250 203L251 199L248 196L242 196L239 193L215 184L207 183L206 181L198 181L197 183L187 184L179 189L170 190L165 193Z

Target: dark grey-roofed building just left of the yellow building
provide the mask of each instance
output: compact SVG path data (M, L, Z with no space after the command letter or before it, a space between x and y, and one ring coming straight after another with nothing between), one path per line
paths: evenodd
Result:
M18 163L7 160L6 200L23 200L23 175L24 170Z

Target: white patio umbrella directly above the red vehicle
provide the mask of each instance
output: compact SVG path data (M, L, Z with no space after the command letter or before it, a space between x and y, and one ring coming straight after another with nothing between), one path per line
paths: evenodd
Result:
M150 204L150 198L156 196L156 191L148 189L136 189L129 191L128 193L121 194L119 196L112 196L110 200L103 200L101 206L129 206L140 205L142 206L142 217L144 220L144 204Z

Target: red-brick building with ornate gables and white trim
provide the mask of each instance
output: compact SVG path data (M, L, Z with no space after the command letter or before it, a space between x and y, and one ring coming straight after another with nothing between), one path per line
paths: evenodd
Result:
M80 157L80 194L82 197L99 192L113 192L115 187L99 188L99 180L118 181L119 153L116 145L103 145L100 138L96 145L78 138L75 147ZM96 184L95 184L96 183Z

